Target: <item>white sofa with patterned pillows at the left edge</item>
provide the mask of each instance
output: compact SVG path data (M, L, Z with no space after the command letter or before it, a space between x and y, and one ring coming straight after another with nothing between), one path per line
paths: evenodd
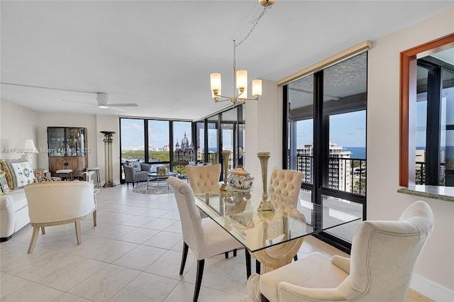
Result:
M8 185L2 183L0 196L0 242L3 242L30 223L23 187L35 181L35 176L26 160L0 160L0 170L8 182Z

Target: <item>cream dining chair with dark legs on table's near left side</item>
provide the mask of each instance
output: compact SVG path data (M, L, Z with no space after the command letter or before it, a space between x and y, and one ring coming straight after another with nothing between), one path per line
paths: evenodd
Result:
M193 297L193 301L196 302L199 297L205 259L229 250L239 249L243 245L215 223L214 220L201 220L195 204L194 193L186 181L176 177L169 177L167 182L174 191L182 223L183 252L179 274L183 274L189 248L197 259L196 284Z

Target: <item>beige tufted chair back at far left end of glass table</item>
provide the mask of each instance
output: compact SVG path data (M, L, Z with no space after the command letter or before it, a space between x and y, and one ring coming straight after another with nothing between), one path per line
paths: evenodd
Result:
M187 178L194 194L218 193L221 164L186 166Z

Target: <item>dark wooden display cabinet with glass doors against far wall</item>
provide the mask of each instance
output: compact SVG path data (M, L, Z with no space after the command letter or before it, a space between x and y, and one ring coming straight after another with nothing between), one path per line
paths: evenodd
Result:
M87 128L48 127L49 172L72 169L73 177L82 177L88 167Z

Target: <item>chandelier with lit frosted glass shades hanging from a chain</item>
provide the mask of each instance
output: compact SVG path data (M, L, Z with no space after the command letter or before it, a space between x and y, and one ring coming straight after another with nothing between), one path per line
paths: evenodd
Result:
M255 26L257 26L260 18L265 14L267 9L275 3L275 0L258 0L258 2L264 6L262 13L258 16L258 18L253 21L253 26L250 28L249 33L245 35L243 40L239 43L236 43L236 40L233 40L233 97L223 96L221 94L221 74L218 72L214 72L210 74L210 86L211 86L211 97L216 102L221 101L231 101L232 104L236 104L238 101L243 102L246 100L253 100L248 99L248 71L247 70L236 70L236 47L240 46L249 35L253 32ZM238 93L235 90L238 89ZM259 96L262 95L262 80L255 79L252 82L252 95L258 100Z

